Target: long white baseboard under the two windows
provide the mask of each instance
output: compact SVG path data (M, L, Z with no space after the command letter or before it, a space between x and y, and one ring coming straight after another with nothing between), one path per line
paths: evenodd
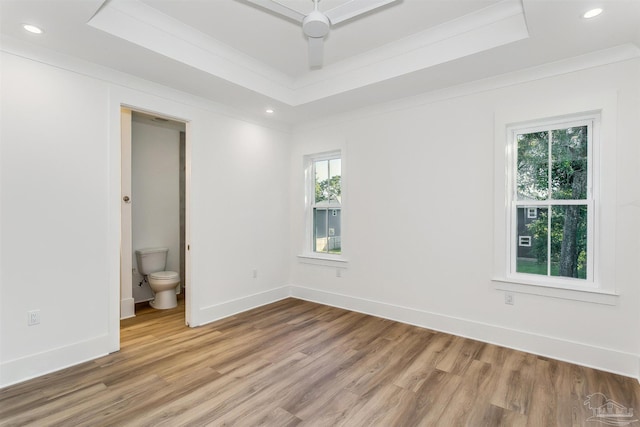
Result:
M640 356L378 301L291 286L291 296L600 369L640 381Z

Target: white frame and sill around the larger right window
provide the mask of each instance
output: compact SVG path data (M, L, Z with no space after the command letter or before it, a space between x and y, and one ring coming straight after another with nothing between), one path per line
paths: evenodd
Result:
M492 288L495 291L515 292L542 298L558 298L589 304L615 306L620 293L616 286L617 236L617 162L619 93L615 89L588 91L576 96L573 91L558 87L553 94L541 93L527 102L509 102L497 106L493 113L493 269ZM594 236L594 286L541 283L507 277L509 269L509 235L506 224L510 218L505 205L509 187L506 165L509 161L509 135L511 126L541 124L561 119L575 120L596 117L593 144L594 198L597 200L595 220L598 224ZM501 299L502 300L502 299Z

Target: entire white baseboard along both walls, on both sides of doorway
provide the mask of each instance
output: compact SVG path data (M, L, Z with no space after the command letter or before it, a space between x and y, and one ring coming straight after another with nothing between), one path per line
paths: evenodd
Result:
M640 382L640 355L532 334L526 331L475 322L438 313L431 313L348 295L335 294L301 286L282 286L247 297L205 307L197 313L198 323L204 325L256 307L288 297L312 301L333 307L371 314L478 341L496 344L563 360L603 371L613 372ZM29 355L0 364L0 388L69 366L97 359L110 352L108 335Z

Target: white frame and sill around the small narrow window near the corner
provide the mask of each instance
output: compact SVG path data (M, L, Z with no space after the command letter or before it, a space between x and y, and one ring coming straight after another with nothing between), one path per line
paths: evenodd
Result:
M339 254L329 252L314 251L314 224L313 211L315 207L315 170L314 164L319 161L340 159L340 240L341 250ZM331 150L321 153L308 154L304 156L304 197L305 197L305 218L304 218L304 243L302 253L298 255L300 262L335 266L346 268L345 259L345 159L343 150ZM331 215L332 207L326 208L327 215Z

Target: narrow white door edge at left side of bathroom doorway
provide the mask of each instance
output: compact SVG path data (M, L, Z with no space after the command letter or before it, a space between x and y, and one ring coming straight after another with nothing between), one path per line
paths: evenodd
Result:
M120 113L121 200L120 200L120 318L135 316L131 253L131 110Z

